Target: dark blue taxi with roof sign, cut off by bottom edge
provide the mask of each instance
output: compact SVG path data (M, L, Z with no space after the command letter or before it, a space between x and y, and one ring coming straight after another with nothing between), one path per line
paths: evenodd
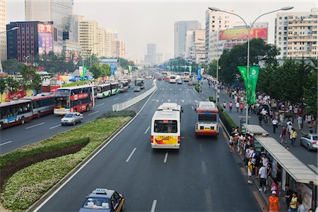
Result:
M110 189L95 189L86 196L86 201L79 212L86 211L124 211L124 195Z

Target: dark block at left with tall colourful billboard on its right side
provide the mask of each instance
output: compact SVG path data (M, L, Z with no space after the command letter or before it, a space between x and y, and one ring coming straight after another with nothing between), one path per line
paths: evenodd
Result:
M11 30L18 27L18 30ZM8 59L28 62L37 54L53 49L53 22L21 21L6 25Z

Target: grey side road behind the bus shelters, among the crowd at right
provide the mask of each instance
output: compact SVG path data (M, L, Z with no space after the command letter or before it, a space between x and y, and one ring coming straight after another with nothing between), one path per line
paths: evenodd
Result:
M234 102L233 99L230 99L229 96L225 93L224 90L220 90L220 102ZM236 112L235 110L232 110L232 112L228 112L230 117L235 121L236 124L240 124L240 118L239 116L245 117L245 112L240 114L240 112ZM250 124L259 124L258 117L256 114L249 114L251 118L249 118ZM262 126L266 131L269 132L269 136L273 137L273 139L276 139L276 141L281 141L281 138L279 138L279 134L281 133L281 126L276 129L276 134L273 134L273 126L271 124L262 124ZM293 153L299 160L302 161L302 163L305 163L306 165L314 165L317 167L317 151L307 151L307 149L303 146L300 146L300 136L296 141L296 146L293 147L290 143L290 139L287 139L288 143L282 143L284 147L290 146L290 152Z

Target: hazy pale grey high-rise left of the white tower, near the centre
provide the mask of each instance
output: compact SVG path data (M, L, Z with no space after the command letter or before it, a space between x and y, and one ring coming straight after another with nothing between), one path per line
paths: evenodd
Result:
M175 57L185 57L187 30L198 30L198 20L182 20L175 22Z

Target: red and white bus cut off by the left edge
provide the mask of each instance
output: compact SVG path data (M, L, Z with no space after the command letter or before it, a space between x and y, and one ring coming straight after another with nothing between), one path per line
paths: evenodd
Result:
M0 130L24 124L32 118L32 100L11 100L0 103Z

